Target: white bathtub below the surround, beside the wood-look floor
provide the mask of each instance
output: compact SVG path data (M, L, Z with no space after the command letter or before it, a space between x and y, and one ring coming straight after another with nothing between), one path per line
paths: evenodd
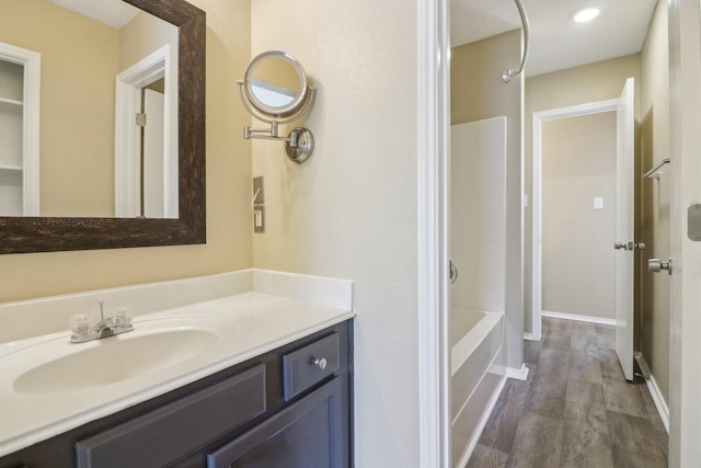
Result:
M506 381L504 312L450 312L451 465L466 466Z

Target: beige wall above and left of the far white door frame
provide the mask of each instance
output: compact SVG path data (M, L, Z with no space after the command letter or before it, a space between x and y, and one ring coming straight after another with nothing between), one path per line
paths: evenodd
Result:
M539 111L568 107L596 101L618 99L625 79L635 78L635 88L640 89L640 55L631 55L611 60L599 61L583 67L555 71L526 79L526 116L524 147L524 193L532 199L531 191L531 121ZM640 94L635 93L636 96ZM636 105L636 109L640 106ZM639 164L636 163L636 167ZM640 181L636 181L640 182ZM532 206L524 210L524 330L528 333L531 326L531 217Z

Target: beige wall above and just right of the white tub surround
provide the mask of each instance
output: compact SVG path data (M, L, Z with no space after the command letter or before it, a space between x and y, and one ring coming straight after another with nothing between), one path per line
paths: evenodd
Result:
M521 102L522 77L502 81L502 71L520 62L521 33L512 31L456 47L450 56L452 124L506 116L506 362L524 361L521 270Z

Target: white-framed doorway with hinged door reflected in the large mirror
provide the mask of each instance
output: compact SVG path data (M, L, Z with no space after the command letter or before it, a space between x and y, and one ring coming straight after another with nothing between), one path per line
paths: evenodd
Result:
M177 218L177 133L172 130L177 128L177 109L170 46L165 45L117 76L117 217Z

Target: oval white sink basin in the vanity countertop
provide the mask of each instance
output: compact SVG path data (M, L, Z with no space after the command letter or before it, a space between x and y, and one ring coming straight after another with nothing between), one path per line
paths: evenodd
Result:
M20 393L48 395L114 384L180 364L219 341L216 333L198 329L137 333L71 344L77 352L26 370L13 388Z

